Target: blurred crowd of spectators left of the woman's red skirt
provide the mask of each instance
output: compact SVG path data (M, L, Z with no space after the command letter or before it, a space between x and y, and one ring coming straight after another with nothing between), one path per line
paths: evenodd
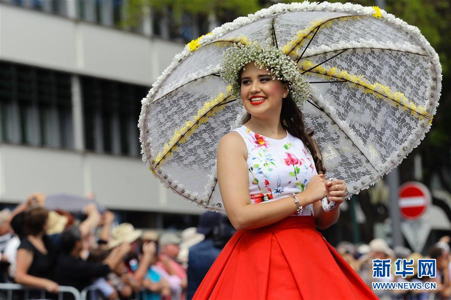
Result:
M56 298L60 286L91 286L104 299L190 298L234 233L217 212L205 212L198 228L177 234L113 226L115 215L100 213L94 203L80 220L49 211L45 199L34 193L13 211L0 212L0 282L37 288L31 298L41 297L38 289ZM193 245L200 247L189 251Z

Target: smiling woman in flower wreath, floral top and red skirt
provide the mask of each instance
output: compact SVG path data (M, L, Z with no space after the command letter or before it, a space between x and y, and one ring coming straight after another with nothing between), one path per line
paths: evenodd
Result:
M193 298L376 298L315 229L338 219L321 199L340 204L346 184L324 179L299 108L308 85L296 65L258 44L233 46L223 57L222 77L247 111L217 148L222 202L238 231ZM324 289L312 278L334 279Z

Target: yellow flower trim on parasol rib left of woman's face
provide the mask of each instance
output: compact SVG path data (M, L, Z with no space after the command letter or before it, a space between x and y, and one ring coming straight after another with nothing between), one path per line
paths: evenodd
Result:
M188 120L185 122L185 125L180 129L176 129L172 138L169 142L165 143L163 146L163 150L160 151L157 157L152 161L152 165L149 167L151 171L154 171L153 168L156 164L161 163L164 159L171 156L172 152L177 149L176 144L182 144L186 142L189 136L203 123L206 123L208 118L215 115L222 109L224 109L225 105L218 106L222 101L224 101L229 95L231 91L231 86L227 86L227 91L225 94L220 92L215 98L205 102L197 113L193 116L192 120Z

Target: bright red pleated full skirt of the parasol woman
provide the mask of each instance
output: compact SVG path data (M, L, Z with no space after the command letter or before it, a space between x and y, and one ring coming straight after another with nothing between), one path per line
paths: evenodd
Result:
M315 228L314 216L289 216L239 230L193 299L377 299Z

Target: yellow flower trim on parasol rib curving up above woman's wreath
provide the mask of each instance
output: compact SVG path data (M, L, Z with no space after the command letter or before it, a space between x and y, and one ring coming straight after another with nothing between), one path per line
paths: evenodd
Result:
M315 34L315 29L320 25L325 25L326 27L330 27L332 25L332 21L347 21L349 19L356 19L359 15L355 16L342 16L337 18L331 18L331 19L322 19L322 20L315 20L311 21L311 26L302 30L299 30L296 35L293 37L292 40L287 42L283 47L282 51L285 54L289 54L291 57L296 57L296 53L298 50L304 45L304 41L306 39L312 38L313 34Z

